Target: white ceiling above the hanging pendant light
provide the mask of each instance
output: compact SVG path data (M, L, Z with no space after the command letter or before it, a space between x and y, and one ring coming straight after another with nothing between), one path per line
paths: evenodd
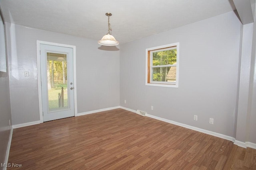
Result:
M232 0L0 0L10 23L100 40L108 32L126 43L235 10Z

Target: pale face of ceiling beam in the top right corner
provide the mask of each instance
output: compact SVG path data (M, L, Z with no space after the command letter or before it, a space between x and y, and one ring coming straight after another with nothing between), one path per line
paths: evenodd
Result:
M243 25L253 22L252 6L250 0L233 0Z

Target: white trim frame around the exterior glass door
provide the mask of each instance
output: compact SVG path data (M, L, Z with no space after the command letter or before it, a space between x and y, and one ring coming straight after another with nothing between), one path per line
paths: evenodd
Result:
M43 103L42 103L42 85L41 85L40 44L55 45L55 46L68 47L73 49L74 112L75 112L75 116L77 116L78 114L77 114L77 96L76 96L76 46L37 40L36 41L36 57L37 57L37 81L38 81L38 102L39 102L40 123L44 122Z

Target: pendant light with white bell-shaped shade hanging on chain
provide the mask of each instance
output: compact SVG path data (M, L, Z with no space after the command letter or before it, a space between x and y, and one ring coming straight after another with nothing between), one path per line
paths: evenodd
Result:
M118 45L119 42L116 41L115 37L112 34L112 27L109 23L109 17L112 16L111 13L106 13L106 16L108 16L108 33L106 35L104 35L102 37L102 39L100 41L98 41L98 43L100 45L106 45L106 46L114 46L114 45Z

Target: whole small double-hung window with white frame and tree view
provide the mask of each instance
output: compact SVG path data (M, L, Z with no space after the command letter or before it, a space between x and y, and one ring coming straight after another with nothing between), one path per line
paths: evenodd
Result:
M146 85L178 87L179 43L146 49Z

